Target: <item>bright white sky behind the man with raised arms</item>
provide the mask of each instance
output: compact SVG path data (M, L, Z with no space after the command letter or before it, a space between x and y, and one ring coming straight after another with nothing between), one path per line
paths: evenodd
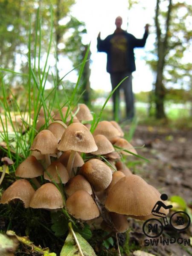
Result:
M111 90L110 75L106 71L107 55L104 52L97 52L96 38L101 32L101 38L112 34L115 30L115 18L121 16L123 19L122 29L127 30L136 38L142 38L146 23L152 24L156 1L142 0L130 11L128 10L128 0L76 0L76 4L71 9L71 15L78 20L84 21L87 35L83 36L83 43L90 44L91 51L91 75L90 86L94 90ZM153 28L150 28L153 30ZM145 64L144 57L147 51L153 47L154 36L148 36L145 48L135 49L136 71L133 73L134 93L149 91L152 88L154 76L149 67ZM61 68L61 74L69 71L70 63ZM72 72L67 79L76 82L76 72Z

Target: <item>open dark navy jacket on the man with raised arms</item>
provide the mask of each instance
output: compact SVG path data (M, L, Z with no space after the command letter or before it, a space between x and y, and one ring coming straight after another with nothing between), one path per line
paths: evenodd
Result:
M129 34L125 30L122 30L122 34L127 39L127 50L126 50L126 71L133 72L136 70L135 67L135 58L134 58L134 48L144 47L146 39L148 37L148 32L145 31L142 39L137 39L134 35ZM113 73L111 68L111 39L115 35L115 32L112 35L108 35L104 40L97 38L97 49L99 52L107 53L107 72Z

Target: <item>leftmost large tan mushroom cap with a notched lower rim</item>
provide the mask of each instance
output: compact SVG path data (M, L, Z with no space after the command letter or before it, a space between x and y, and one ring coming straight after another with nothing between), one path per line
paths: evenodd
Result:
M21 201L23 201L24 207L28 208L34 193L35 189L32 187L28 180L16 180L3 192L0 203L9 204L9 202L13 199L20 199Z

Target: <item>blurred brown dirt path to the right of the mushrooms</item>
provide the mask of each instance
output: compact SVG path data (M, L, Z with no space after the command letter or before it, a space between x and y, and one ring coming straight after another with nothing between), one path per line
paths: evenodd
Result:
M192 203L192 131L138 126L134 146L150 163L137 167L142 177L168 196L179 195Z

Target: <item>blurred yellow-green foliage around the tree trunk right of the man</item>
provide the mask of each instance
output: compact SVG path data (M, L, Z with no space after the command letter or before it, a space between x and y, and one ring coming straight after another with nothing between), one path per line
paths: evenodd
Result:
M166 19L168 0L160 1L158 21L160 23L160 41L166 38ZM189 54L191 45L192 31L190 28L189 17L192 15L192 6L190 4L175 1L171 6L170 24L167 32L167 44L165 52L165 64L163 69L164 84L175 87L179 85L180 88L191 88L192 69L191 63L186 56ZM154 44L154 49L150 51L151 54L147 57L147 63L154 72L157 72L157 41ZM160 49L159 49L160 50Z

